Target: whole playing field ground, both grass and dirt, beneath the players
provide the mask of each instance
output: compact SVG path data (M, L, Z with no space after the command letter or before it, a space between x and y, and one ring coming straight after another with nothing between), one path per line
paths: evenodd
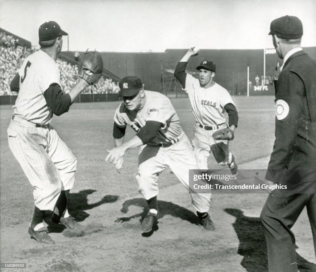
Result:
M264 169L271 152L273 99L260 98L259 103L256 99L236 99L240 125L231 146L240 169ZM180 120L187 120L181 122L190 137L193 119L189 104L182 98L173 103ZM1 263L26 263L23 269L1 271L267 272L266 244L259 221L266 193L213 191L210 215L216 230L205 231L191 206L190 195L166 169L159 179L160 218L153 231L141 233L140 222L147 211L133 176L137 150L126 155L120 175L104 162L106 152L102 150L112 146L116 106L74 104L68 115L54 117L54 127L79 164L76 184L70 192L70 214L86 227L73 235L46 220L54 245L38 244L27 233L33 212L32 188L7 147L5 128L12 110L0 108ZM254 124L256 128L252 129ZM209 168L215 165L210 158ZM293 232L299 271L316 271L306 210Z

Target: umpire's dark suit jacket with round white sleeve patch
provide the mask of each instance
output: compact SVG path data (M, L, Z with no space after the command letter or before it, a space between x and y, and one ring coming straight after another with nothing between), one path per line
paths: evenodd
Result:
M292 54L276 82L275 143L268 169L316 169L316 60ZM271 174L274 173L274 174ZM266 178L277 182L279 171Z

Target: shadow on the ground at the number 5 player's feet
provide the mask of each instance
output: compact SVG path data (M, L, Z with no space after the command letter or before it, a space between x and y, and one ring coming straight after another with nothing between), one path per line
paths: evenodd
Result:
M82 222L89 217L89 214L85 211L98 207L105 203L113 203L119 197L117 195L106 195L100 201L88 204L88 195L96 192L96 190L87 189L78 193L70 193L68 201L68 211L70 215L75 218L77 222ZM48 224L50 232L62 232L65 227L63 225L56 225L52 223L50 217L52 212L46 212L44 221Z

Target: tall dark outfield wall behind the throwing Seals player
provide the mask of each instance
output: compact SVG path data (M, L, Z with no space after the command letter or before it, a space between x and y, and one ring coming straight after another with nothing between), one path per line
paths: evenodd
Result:
M316 47L303 49L316 59ZM162 70L168 70L170 77L173 77L174 68L186 51L187 49L167 49L161 53L101 52L101 55L104 67L120 78L135 75L142 79L146 89L161 91ZM73 58L74 52L63 54ZM259 77L264 74L264 49L201 49L197 56L190 58L187 71L194 72L195 67L203 60L215 62L215 81L232 95L246 94L247 66L250 68L252 85L255 84L257 74ZM276 53L265 54L266 75L273 75L278 62L281 65L283 60ZM180 91L181 86L177 84L176 89Z

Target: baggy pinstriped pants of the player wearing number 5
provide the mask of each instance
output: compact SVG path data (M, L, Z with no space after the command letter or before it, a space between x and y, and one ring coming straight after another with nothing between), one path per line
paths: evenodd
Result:
M9 148L33 186L35 206L53 211L60 191L74 185L76 157L50 124L38 126L15 116L7 132Z

